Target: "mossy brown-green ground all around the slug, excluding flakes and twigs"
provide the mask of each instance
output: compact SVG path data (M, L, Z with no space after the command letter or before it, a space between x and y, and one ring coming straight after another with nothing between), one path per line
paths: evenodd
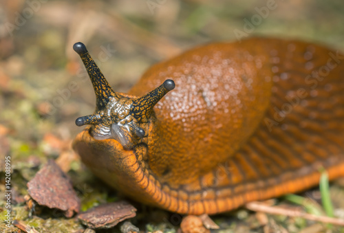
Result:
M43 1L0 2L0 154L1 197L5 191L3 158L11 156L12 190L27 194L26 183L47 159L56 159L72 178L82 210L119 197L100 183L72 152L81 129L74 120L94 110L87 74L73 43L82 41L116 91L127 91L151 64L184 49L211 41L235 40L244 19L268 1ZM299 38L344 50L343 1L275 1L276 8L247 33ZM343 217L343 185L330 188L337 216ZM310 190L301 195L311 197ZM277 200L279 205L286 201ZM5 202L0 201L0 218ZM289 203L290 204L290 203ZM176 232L181 217L134 203L132 223L141 230ZM213 217L219 232L344 232L343 228L300 218L266 216L264 226L245 209ZM12 218L40 232L83 232L76 219L56 210L32 213L23 203L12 205ZM314 230L316 229L316 230ZM0 232L8 229L1 221ZM118 228L104 232L118 232Z

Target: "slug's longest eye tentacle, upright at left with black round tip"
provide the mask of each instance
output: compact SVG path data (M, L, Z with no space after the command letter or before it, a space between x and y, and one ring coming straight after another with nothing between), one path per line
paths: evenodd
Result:
M103 76L102 71L100 71L98 65L94 62L91 55L86 49L86 46L81 43L75 43L73 49L79 54L81 60L87 69L89 78L91 79L94 93L96 93L96 107L97 109L104 109L107 102L109 102L109 97L117 97L114 90L110 87L109 82Z

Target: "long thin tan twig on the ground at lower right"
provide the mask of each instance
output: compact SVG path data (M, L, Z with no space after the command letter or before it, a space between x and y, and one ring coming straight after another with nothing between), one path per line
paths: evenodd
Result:
M268 214L279 214L284 215L288 217L301 217L303 219L308 219L312 221L319 221L322 223L332 223L334 225L342 225L344 226L344 220L343 219L334 219L331 217L326 216L316 216L312 214L307 214L305 212L300 212L297 210L288 210L286 208L280 208L277 206L267 206L265 203L260 203L258 201L252 201L250 203L246 204L246 208L248 210L252 210L255 212L265 212Z

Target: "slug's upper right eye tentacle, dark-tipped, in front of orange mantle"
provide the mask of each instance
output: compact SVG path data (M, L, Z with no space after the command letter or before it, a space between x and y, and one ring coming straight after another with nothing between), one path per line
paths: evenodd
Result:
M147 122L155 104L174 88L175 83L173 80L165 80L160 87L155 88L153 91L133 101L131 115L133 115L138 122Z

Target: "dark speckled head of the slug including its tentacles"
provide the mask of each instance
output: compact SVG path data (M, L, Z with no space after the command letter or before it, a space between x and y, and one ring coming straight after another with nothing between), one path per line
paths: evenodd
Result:
M154 105L166 93L174 89L173 80L165 80L160 87L140 98L131 98L111 89L102 72L89 55L83 43L73 46L83 60L96 94L96 111L76 119L77 126L91 124L92 135L96 140L112 138L129 150L147 136L147 123Z

